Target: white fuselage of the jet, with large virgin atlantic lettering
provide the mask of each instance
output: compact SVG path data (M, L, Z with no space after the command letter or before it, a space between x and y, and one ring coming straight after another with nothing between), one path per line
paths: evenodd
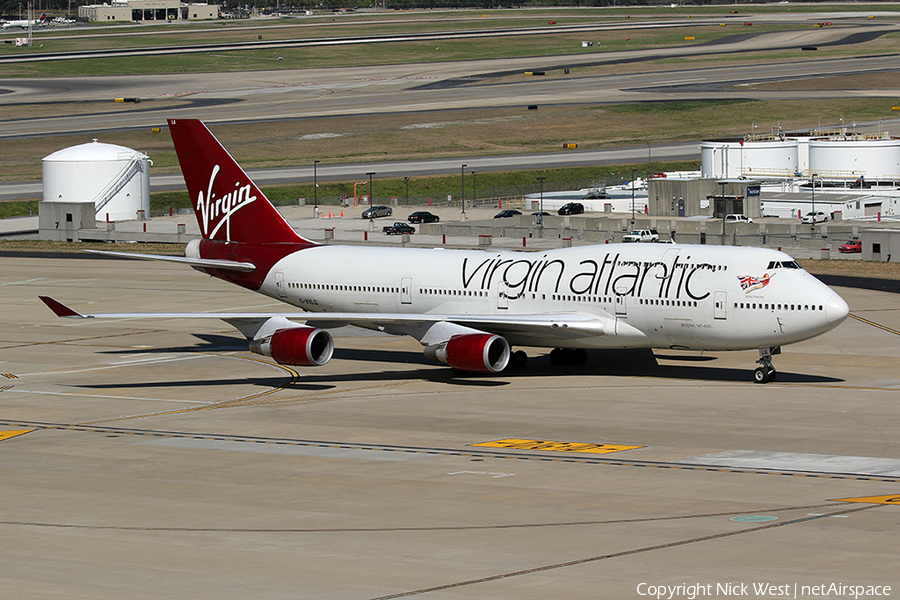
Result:
M317 246L276 263L260 292L311 312L361 313L364 325L378 313L578 314L605 323L606 335L566 344L581 348L776 347L824 333L848 314L840 296L783 252L671 244L546 252ZM504 335L514 345L560 345L533 331Z

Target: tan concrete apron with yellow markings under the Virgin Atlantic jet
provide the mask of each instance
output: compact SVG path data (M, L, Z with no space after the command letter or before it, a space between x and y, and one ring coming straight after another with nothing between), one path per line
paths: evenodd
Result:
M456 378L414 341L355 329L295 371L225 324L57 319L38 294L97 312L274 306L186 268L0 260L9 597L900 590L894 294L839 289L865 321L785 348L765 386L755 352L557 368L532 349L527 371Z

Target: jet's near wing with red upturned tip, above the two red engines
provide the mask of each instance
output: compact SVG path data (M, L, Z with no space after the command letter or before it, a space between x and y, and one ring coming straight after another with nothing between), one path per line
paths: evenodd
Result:
M368 329L378 329L388 333L412 335L421 340L417 331L426 331L436 323L452 323L495 333L511 338L535 338L543 340L556 339L560 343L566 340L588 336L637 336L643 333L633 327L618 322L614 317L597 317L581 313L556 314L514 314L514 315L454 315L439 313L233 313L233 312L197 312L197 313L96 313L81 314L68 306L50 298L40 299L58 317L77 319L221 319L224 321L262 321L272 318L305 322L312 327L329 329L344 325L358 325Z

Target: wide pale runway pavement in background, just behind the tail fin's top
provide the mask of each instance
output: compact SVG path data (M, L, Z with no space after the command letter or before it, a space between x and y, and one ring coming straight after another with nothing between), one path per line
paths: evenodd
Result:
M336 115L378 115L460 108L603 104L685 99L796 99L865 96L872 90L767 91L745 84L804 77L893 71L896 55L764 61L728 65L709 62L693 68L650 73L595 75L584 69L653 59L726 57L743 52L797 49L850 43L859 36L883 35L895 25L848 25L735 35L722 43L680 48L623 50L595 55L397 64L371 67L257 71L235 74L182 74L0 80L0 106L47 102L98 102L95 114L7 120L0 139L159 127L167 118L202 118L208 123L278 121ZM810 53L813 54L813 53ZM723 61L724 62L724 61ZM501 80L500 75L569 68L568 76ZM740 87L734 87L738 86ZM889 92L885 91L885 94ZM109 118L103 102L141 98L133 110ZM187 102L187 103L185 103Z

